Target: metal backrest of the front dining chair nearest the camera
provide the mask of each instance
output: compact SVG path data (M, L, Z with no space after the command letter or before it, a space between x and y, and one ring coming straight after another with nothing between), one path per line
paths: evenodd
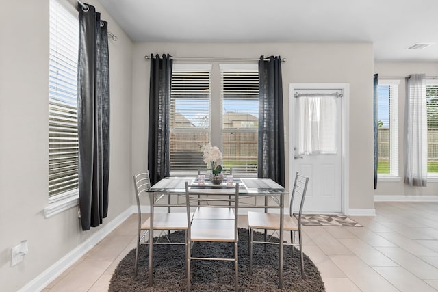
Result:
M234 196L233 196L234 189ZM220 191L225 191L225 194ZM202 196L201 196L202 195ZM205 195L214 195L214 198L211 196ZM227 196L228 195L228 196ZM239 215L239 183L236 183L234 186L227 185L222 186L222 188L218 191L212 191L211 186L209 185L193 185L190 186L189 183L185 182L185 206L187 208L187 222L188 222L188 236L190 237L190 224L192 222L192 215L190 214L190 209L198 207L201 202L209 202L209 204L203 204L202 207L220 207L220 208L229 208L231 206L234 208L234 230L235 230L235 239L238 238L238 215ZM227 204L223 204L227 202ZM213 203L213 204L212 204ZM232 203L232 205L231 205Z

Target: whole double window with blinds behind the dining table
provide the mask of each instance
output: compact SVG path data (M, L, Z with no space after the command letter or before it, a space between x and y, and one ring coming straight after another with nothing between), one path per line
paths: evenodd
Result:
M257 175L257 65L174 64L170 95L172 176L205 170L207 143L220 148L224 168Z

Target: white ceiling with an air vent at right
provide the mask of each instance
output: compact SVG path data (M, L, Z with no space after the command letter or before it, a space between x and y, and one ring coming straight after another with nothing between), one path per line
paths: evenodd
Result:
M438 61L438 0L99 3L133 42L373 42L379 61Z

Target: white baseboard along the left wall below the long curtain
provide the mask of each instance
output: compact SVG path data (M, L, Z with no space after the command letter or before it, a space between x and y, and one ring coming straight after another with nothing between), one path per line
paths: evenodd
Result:
M133 213L133 208L129 207L123 213L120 213L117 217L115 217L111 222L107 222L107 224L103 224L102 227L91 235L86 241L83 241L80 245L77 245L71 252L68 252L63 258L59 261L51 265L48 269L42 272L39 276L31 280L31 282L27 283L25 287L21 288L18 291L41 291L47 284L50 284L57 276L60 276L62 272L64 272L68 267L76 263L81 256L86 254L89 250L94 248L94 245L99 243L103 238L109 235L112 230L114 230L117 226L119 226L122 222L127 220L127 218Z

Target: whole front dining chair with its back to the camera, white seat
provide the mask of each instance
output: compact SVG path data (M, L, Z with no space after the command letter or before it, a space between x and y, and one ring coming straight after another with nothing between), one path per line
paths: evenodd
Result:
M239 184L235 186L224 187L227 191L226 194L216 194L215 198L206 198L205 189L209 189L209 186L196 185L189 186L188 182L185 182L185 204L187 207L187 289L190 291L191 277L190 277L190 263L194 260L207 260L207 261L233 261L235 270L235 291L238 287L238 211L239 211ZM222 189L223 190L223 189ZM234 190L234 192L233 192ZM211 194L211 192L209 192ZM228 202L231 202L234 207L232 218L218 218L215 216L196 216L196 212L192 217L190 216L190 210L198 209L200 202L207 201L209 204L205 209L210 209L212 213L218 211L218 209L229 209ZM218 211L220 213L220 211ZM209 242L229 242L234 245L234 256L222 257L222 258L205 258L197 257L195 254L195 243L199 241Z

